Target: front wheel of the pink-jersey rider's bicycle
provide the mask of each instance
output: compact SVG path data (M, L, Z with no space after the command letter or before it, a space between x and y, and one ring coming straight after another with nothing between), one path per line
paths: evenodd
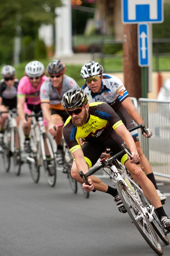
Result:
M51 143L51 139L48 136L48 134L44 133L43 134L43 139L46 140L46 144L48 146L49 152L51 152L51 159L50 159L50 163L53 165L53 174L50 173L50 171L48 170L48 160L43 160L43 165L44 165L44 170L45 170L45 177L47 180L47 183L51 186L54 187L56 184L56 180L57 180L57 167L56 167L56 161L55 161L55 157L54 157L54 151L53 151L53 146Z

